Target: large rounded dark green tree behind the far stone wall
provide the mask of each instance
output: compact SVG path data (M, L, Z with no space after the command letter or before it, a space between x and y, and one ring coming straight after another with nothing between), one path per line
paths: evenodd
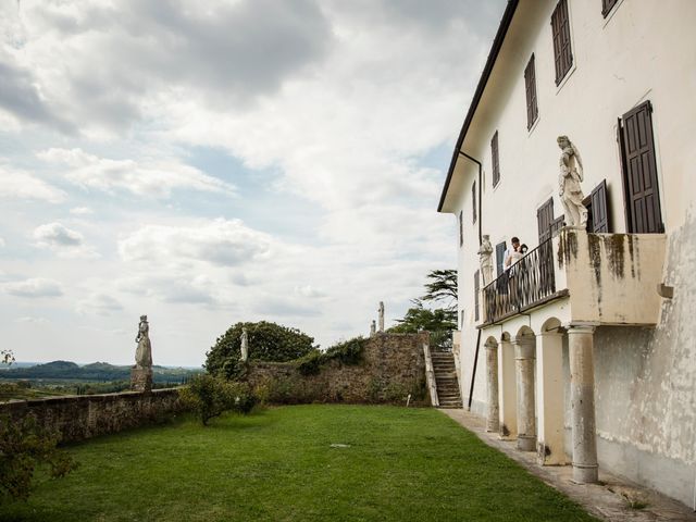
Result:
M237 323L217 338L207 353L204 368L209 373L235 377L241 365L241 330L246 326L249 335L249 360L286 362L299 359L314 351L314 338L297 328L261 321Z

